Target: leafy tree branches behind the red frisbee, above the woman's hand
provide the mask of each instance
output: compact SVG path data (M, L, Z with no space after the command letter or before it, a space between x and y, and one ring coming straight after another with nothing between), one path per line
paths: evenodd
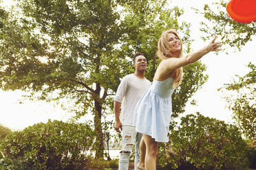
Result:
M241 47L246 45L246 42L255 37L256 23L238 23L231 19L226 12L227 2L219 0L211 5L206 4L203 12L195 9L209 21L201 23L202 28L200 30L206 33L206 36L202 36L202 38L206 40L209 37L218 35L224 45L240 50Z

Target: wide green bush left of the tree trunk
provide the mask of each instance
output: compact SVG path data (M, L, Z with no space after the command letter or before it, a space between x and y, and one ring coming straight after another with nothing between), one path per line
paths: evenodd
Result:
M12 132L0 144L2 169L86 169L94 132L83 123L48 121Z

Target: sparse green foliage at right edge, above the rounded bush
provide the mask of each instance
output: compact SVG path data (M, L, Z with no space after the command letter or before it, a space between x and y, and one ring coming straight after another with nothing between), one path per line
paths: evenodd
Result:
M224 94L228 108L233 112L238 127L250 141L253 141L256 140L256 66L250 63L248 68L249 73L244 76L237 75L234 82L226 84L220 90Z

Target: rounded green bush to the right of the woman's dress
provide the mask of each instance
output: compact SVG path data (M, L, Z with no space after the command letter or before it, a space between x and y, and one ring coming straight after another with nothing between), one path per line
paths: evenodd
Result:
M237 127L224 121L189 114L160 145L159 162L170 169L244 169L248 145ZM168 162L168 163L165 163Z

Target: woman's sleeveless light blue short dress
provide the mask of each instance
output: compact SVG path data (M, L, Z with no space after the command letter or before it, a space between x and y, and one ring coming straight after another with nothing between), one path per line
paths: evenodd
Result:
M173 91L172 77L162 81L153 80L134 110L136 132L147 134L157 142L168 142Z

